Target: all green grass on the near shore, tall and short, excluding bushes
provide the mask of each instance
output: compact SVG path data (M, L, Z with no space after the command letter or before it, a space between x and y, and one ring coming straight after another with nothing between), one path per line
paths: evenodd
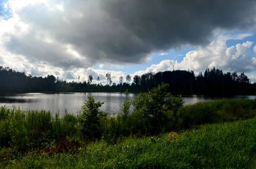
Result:
M209 101L183 106L160 135L131 114L102 118L101 138L84 140L76 115L2 106L0 167L256 168L255 115L256 100Z

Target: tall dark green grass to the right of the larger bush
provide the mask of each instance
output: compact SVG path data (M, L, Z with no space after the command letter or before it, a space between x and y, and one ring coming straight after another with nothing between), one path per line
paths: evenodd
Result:
M183 106L183 127L248 119L256 115L256 100L215 100Z

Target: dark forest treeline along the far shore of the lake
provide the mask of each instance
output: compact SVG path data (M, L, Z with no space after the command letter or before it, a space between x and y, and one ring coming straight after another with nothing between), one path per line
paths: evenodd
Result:
M92 83L93 79L98 83ZM16 72L9 67L0 66L0 94L23 92L146 92L160 83L168 83L173 94L239 94L254 95L256 83L250 83L244 73L223 73L222 70L206 69L204 73L195 75L194 71L165 71L146 73L141 76L130 75L119 77L119 83L112 83L111 74L105 76L106 85L102 85L99 77L89 75L87 81L67 82L59 77L32 77L24 72ZM126 81L126 82L125 82Z

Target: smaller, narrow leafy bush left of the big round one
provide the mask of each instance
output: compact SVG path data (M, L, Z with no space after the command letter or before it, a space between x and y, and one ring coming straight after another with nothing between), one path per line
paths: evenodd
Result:
M93 97L88 97L85 100L84 106L81 107L81 115L79 120L82 125L82 133L87 139L99 138L100 133L100 121L102 117L106 117L107 113L100 111L99 107L102 106L104 102L95 102Z

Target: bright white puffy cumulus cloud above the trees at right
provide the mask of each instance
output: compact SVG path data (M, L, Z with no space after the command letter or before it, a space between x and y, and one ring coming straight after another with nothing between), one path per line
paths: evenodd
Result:
M238 39L239 36L229 39ZM247 51L252 47L253 42L246 41L244 43L238 43L235 46L227 46L227 38L219 37L217 40L212 41L207 46L196 46L195 50L186 53L183 60L177 62L177 60L163 60L159 64L154 64L148 67L146 70L137 71L135 74L144 74L147 72L162 72L166 70L174 69L180 70L194 70L195 73L203 72L205 69L213 68L221 69L224 72L247 72L251 73L256 71L256 57L251 57L247 54ZM256 49L254 46L253 50ZM251 77L254 79L254 77Z

